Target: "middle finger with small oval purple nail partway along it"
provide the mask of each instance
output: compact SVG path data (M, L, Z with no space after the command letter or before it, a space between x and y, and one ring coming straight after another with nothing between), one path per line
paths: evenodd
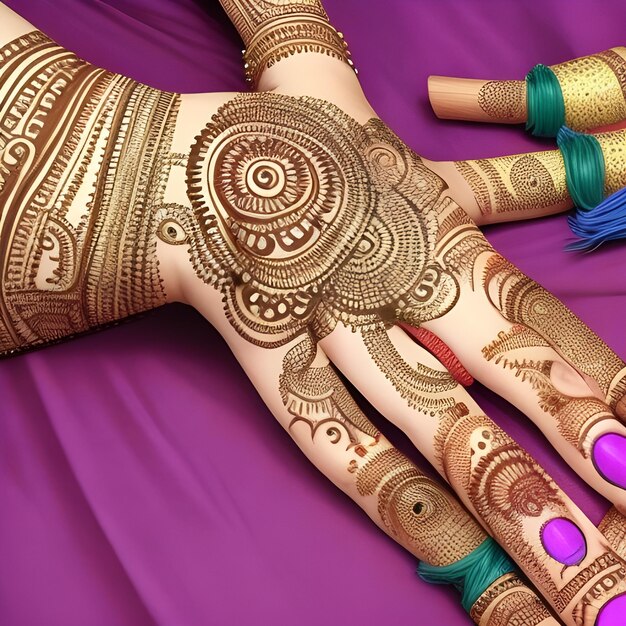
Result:
M332 362L440 471L561 619L593 620L604 605L617 602L626 570L605 538L463 388L443 379L436 392L441 369L431 367L430 354L399 328L352 332L340 325L322 343ZM410 369L412 381L399 375ZM552 539L553 531L564 536L561 526L572 537L562 551ZM611 589L599 590L607 576Z

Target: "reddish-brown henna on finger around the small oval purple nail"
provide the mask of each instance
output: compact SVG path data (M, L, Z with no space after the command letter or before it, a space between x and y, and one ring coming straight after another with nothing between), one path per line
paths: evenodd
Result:
M554 578L545 567L549 557L541 544L546 522L569 519L568 505L552 479L502 430L483 415L470 415L464 405L450 412L438 432L443 474L469 502L490 533L536 582L559 613L572 601L593 610L626 585L626 570L612 552L584 561L572 574ZM444 432L447 428L447 432ZM533 534L536 539L533 541ZM584 538L584 535L581 536ZM572 568L570 568L572 569ZM582 624L583 622L581 622Z

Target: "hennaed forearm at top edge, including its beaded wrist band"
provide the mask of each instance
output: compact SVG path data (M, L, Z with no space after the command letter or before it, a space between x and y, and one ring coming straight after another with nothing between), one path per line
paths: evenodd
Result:
M343 34L318 0L221 0L243 39L246 80L256 84L277 61L317 52L352 65Z

